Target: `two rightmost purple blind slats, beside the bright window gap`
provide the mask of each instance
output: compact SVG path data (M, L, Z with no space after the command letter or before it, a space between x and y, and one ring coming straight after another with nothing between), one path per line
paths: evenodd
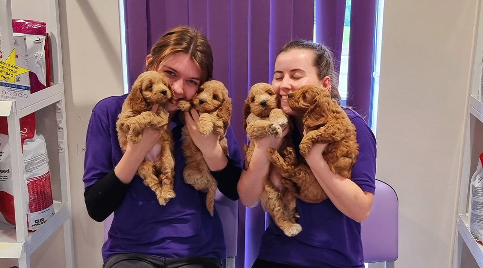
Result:
M316 41L327 45L340 72L345 0L315 0ZM369 122L376 0L351 1L347 105Z

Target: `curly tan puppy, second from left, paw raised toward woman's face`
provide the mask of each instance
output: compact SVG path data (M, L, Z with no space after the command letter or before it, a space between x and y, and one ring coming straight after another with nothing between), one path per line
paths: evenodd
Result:
M210 133L220 135L220 145L224 154L228 155L225 138L231 118L231 99L228 97L228 89L220 81L207 81L200 86L191 102L178 102L178 108L182 111L189 111L191 107L202 113L198 121L200 133L204 136ZM186 126L183 127L182 134L184 138L182 148L186 159L183 177L187 184L192 185L198 191L207 193L207 209L213 216L217 183L210 173L203 154L191 139Z

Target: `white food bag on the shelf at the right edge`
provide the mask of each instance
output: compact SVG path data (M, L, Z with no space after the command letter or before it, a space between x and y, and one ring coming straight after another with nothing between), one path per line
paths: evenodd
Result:
M476 240L483 240L483 153L471 178L471 202L469 229Z

